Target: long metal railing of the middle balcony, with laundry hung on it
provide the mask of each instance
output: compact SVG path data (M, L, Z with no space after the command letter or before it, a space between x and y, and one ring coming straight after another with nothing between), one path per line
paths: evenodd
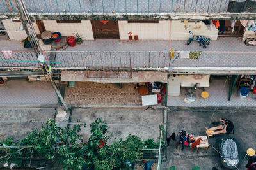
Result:
M177 53L177 52L175 52ZM51 54L51 57L50 57ZM0 67L41 67L33 51L0 51ZM52 57L54 56L55 57ZM45 51L52 69L127 68L168 69L171 67L256 67L256 52L207 52L198 59L171 59L169 52L157 51Z

